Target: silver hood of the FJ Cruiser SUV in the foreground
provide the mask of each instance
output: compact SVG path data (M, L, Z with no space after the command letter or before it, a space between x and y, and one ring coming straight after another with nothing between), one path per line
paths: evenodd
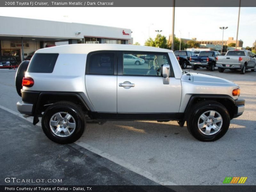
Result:
M231 81L228 81L226 79L220 78L220 77L215 77L212 75L205 75L205 74L200 74L200 73L187 73L187 74L183 74L183 78L185 81L188 81L188 77L190 74L190 81L193 82L202 82L202 83L223 83L223 84L234 84ZM186 78L185 78L186 76Z

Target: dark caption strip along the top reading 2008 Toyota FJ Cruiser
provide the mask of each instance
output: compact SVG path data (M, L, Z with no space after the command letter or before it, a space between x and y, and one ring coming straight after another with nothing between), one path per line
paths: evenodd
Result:
M239 7L240 0L4 0L0 7ZM255 0L241 0L241 7L256 7Z

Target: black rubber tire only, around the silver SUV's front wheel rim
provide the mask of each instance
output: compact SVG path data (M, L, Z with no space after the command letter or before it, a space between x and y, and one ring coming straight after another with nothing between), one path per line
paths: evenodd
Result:
M207 111L214 110L220 114L222 117L222 125L218 132L212 134L212 135L206 135L202 133L198 127L198 122L200 122L200 116ZM220 139L225 133L228 131L228 127L230 124L230 116L228 113L227 108L225 108L222 104L219 102L208 100L208 101L202 101L193 106L193 108L190 111L190 116L187 119L187 127L188 131L197 139L200 141L215 141ZM207 125L208 126L208 125ZM212 131L214 131L212 129Z

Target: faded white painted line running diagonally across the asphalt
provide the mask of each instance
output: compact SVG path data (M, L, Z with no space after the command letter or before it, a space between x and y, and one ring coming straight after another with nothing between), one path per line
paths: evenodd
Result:
M0 108L5 110L5 111L8 111L8 112L12 113L13 115L19 116L20 118L25 119L25 120L27 120L30 123L33 123L33 119L31 117L25 118L20 113L15 112L15 111L13 111L11 109L8 109L8 108L6 108L6 107L4 107L2 105L0 105ZM86 144L86 143L84 143L82 141L78 140L75 143L77 145L79 145L79 146L81 146L81 147L83 147L83 148L85 148L85 149L87 149L87 150L89 150L89 151L99 155L99 156L102 156L102 157L104 157L104 158L106 158L106 159L108 159L108 160L110 160L110 161L112 161L112 162L114 162L116 164L119 164L119 165L125 167L126 169L129 169L132 172L135 172L135 173L137 173L139 175L142 175L143 177L145 177L145 178L147 178L149 180L152 180L152 181L154 181L154 182L156 182L156 183L158 183L160 185L169 185L169 186L175 185L175 186L177 186L177 184L173 183L172 181L159 180L158 178L154 177L150 172L144 171L144 170L142 170L142 169L140 169L140 168L138 168L138 167L136 167L136 166L134 166L132 164L129 164L129 163L127 163L127 162L125 162L125 161L123 161L123 160L121 160L121 159L119 159L119 158L117 158L115 156L112 156L112 155L110 155L108 153L105 153L105 152L103 152L103 151L101 151L101 150L99 150L97 148L94 148L94 147L92 147L92 146L90 146L90 145L88 145L88 144ZM172 188L172 187L169 187L169 188ZM175 191L182 192L182 191L186 191L186 190L184 188L182 188L182 187L179 187L179 189L177 189L177 187L175 187Z

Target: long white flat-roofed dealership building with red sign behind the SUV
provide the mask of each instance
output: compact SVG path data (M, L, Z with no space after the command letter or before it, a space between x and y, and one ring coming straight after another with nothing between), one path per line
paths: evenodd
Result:
M0 56L18 62L36 50L63 44L132 44L131 29L0 16Z

